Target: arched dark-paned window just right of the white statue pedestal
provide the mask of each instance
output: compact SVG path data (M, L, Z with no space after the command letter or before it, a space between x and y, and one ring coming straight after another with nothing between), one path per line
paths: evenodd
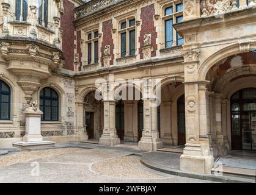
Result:
M46 87L40 91L42 121L59 121L59 96L55 90Z

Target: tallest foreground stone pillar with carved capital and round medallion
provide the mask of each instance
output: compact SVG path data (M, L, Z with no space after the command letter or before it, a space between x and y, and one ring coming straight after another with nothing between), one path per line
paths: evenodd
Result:
M207 81L197 80L200 49L182 52L185 60L186 144L180 157L181 171L211 173L213 152L207 137Z

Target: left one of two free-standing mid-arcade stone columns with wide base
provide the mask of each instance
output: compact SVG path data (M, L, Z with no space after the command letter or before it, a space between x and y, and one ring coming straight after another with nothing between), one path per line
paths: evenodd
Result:
M100 144L104 146L115 146L120 144L120 138L117 137L115 129L115 102L106 100L104 103L104 128L100 138Z

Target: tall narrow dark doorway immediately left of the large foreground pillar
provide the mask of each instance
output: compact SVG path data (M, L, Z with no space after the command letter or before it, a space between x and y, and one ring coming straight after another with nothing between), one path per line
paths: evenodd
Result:
M185 94L177 101L178 112L178 145L186 144L186 124L185 124Z

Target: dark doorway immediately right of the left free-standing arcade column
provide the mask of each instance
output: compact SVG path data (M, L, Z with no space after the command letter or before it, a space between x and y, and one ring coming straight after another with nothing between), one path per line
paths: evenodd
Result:
M122 100L115 104L115 128L117 129L117 136L123 140L125 135L125 105Z

